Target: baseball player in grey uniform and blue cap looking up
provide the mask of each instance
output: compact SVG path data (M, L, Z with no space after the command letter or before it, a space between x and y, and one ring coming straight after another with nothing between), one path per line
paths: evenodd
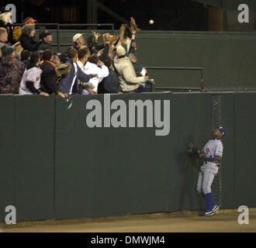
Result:
M193 143L189 143L189 154L202 158L202 166L200 167L199 179L197 183L197 191L203 193L206 199L206 211L200 216L214 215L216 210L220 208L213 202L211 185L214 176L218 173L220 161L223 155L223 143L221 139L226 135L225 129L220 126L213 130L213 139L209 140L202 150L195 149Z

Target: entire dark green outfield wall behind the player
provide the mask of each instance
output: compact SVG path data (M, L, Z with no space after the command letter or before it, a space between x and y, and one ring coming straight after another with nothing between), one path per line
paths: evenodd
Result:
M199 164L186 150L191 141L202 148L210 139L216 95L227 136L215 200L222 208L255 207L255 93L111 95L124 105L161 100L162 119L163 102L170 101L167 136L155 136L154 125L89 128L86 105L103 106L103 95L74 95L69 102L1 95L1 222L8 205L16 206L17 221L205 208L195 190ZM129 117L127 109L127 123Z

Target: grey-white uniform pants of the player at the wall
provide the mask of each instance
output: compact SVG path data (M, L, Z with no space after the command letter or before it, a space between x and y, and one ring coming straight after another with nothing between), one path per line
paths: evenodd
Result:
M216 163L204 162L200 170L196 189L199 193L203 192L206 195L211 192L211 185L219 167L217 167Z

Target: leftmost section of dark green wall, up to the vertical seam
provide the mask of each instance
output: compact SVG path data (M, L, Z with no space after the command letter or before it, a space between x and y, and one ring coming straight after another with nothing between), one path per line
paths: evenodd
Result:
M52 219L55 96L1 95L0 101L1 218L14 205L17 221Z

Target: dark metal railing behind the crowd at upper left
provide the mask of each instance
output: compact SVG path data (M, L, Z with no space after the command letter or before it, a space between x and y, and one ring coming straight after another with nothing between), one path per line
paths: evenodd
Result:
M23 23L14 23L14 26L23 26ZM71 44L61 44L60 42L60 29L61 27L72 27L72 26L78 26L78 27L82 27L82 26L110 26L111 27L111 34L114 33L114 29L115 29L115 25L113 23L68 23L68 24L60 24L60 23L36 23L36 26L54 26L56 27L56 32L57 32L57 44L52 44L53 46L57 46L57 53L60 52L60 47L67 47L70 46ZM74 29L73 29L74 30Z

